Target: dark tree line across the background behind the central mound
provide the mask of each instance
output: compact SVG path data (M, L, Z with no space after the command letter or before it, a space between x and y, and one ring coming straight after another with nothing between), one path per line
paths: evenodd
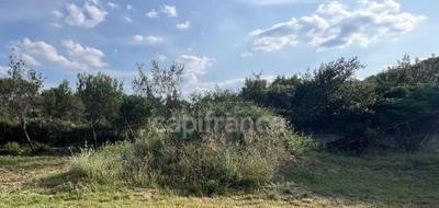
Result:
M8 74L0 79L0 143L25 142L36 151L41 143L88 141L98 147L106 140L134 140L150 118L171 118L210 97L270 108L307 135L360 138L370 146L382 135L399 134L403 148L417 149L439 107L438 63L436 57L420 61L405 56L396 66L359 80L354 74L365 66L358 58L340 58L292 77L264 80L255 74L238 93L183 99L182 65L165 69L153 61L149 71L137 65L134 93L127 94L121 81L101 72L78 74L75 90L68 81L43 89L43 76L11 56Z

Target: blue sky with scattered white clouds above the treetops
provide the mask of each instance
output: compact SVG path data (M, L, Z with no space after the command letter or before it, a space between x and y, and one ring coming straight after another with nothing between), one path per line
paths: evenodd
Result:
M130 92L136 62L148 70L157 60L185 66L189 94L358 56L363 79L405 54L437 53L437 0L2 0L0 76L13 54L43 73L45 88L102 71Z

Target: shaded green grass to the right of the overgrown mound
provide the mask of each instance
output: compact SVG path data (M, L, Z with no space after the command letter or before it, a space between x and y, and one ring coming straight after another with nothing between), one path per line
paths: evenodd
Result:
M320 196L396 207L439 204L439 155L315 154L290 169L290 180Z

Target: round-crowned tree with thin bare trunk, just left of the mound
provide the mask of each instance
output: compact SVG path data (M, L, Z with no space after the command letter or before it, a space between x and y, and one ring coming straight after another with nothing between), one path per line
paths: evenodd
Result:
M122 82L101 72L97 76L80 73L78 95L86 108L86 117L93 131L94 148L97 148L95 126L117 116L123 95Z

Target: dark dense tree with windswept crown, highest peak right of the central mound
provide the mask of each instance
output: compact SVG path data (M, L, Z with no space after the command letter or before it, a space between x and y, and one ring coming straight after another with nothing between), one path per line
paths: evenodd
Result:
M340 58L322 65L313 73L306 74L295 88L291 103L291 119L299 128L307 131L323 131L334 127L349 108L353 74L364 68L358 58Z

